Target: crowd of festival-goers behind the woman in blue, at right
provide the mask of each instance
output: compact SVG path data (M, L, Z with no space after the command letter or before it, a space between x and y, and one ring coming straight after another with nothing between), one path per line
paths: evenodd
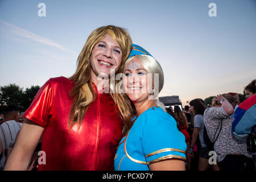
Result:
M212 105L208 107L203 100L196 98L189 102L189 106L185 106L183 113L179 106L174 106L174 109L170 106L167 109L185 136L188 171L255 170L255 89L253 80L244 89L246 100L242 104L237 93L225 93L215 96ZM241 117L245 110L242 110L241 115L240 105L247 108L243 121ZM239 121L242 122L238 126ZM254 142L251 143L253 146L250 146L250 150L247 149L250 145L247 139L249 134L253 136ZM210 141L207 140L208 137ZM209 163L212 156L209 155L210 151L216 152L215 164Z

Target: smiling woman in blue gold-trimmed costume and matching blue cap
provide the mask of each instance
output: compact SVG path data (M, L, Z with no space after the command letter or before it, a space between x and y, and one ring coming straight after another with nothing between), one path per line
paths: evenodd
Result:
M163 80L158 61L133 44L125 63L123 89L137 115L119 143L115 170L185 170L185 137L177 129L175 119L155 100Z

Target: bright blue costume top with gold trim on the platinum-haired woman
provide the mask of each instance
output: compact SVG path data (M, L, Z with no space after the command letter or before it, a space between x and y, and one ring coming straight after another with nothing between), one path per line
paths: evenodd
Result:
M186 160L185 137L175 119L161 107L151 107L135 120L119 143L114 168L148 171L148 165L166 159Z

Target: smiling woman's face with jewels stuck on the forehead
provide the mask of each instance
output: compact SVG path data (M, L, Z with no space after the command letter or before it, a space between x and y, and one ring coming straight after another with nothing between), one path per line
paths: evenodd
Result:
M149 90L152 88L148 79L150 78L141 61L137 57L131 59L126 65L123 78L123 88L131 101L144 102L148 99Z

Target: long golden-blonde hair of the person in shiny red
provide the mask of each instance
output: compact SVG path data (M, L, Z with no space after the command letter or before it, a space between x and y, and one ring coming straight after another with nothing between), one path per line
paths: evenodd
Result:
M90 81L90 56L93 47L106 34L112 36L112 38L118 42L122 49L121 65L117 73L120 73L123 70L125 60L130 54L132 41L129 33L124 28L112 25L103 26L97 28L89 35L85 46L82 48L82 51L77 58L76 72L73 76L70 77L70 79L73 80L75 86L70 93L73 97L73 102L69 113L69 129L76 123L79 123L79 126L81 126L86 110L96 99L96 94L93 90L92 82ZM130 125L131 106L127 100L127 96L117 92L110 93L110 96L118 106L119 112L121 114L120 117L123 119L125 125Z

